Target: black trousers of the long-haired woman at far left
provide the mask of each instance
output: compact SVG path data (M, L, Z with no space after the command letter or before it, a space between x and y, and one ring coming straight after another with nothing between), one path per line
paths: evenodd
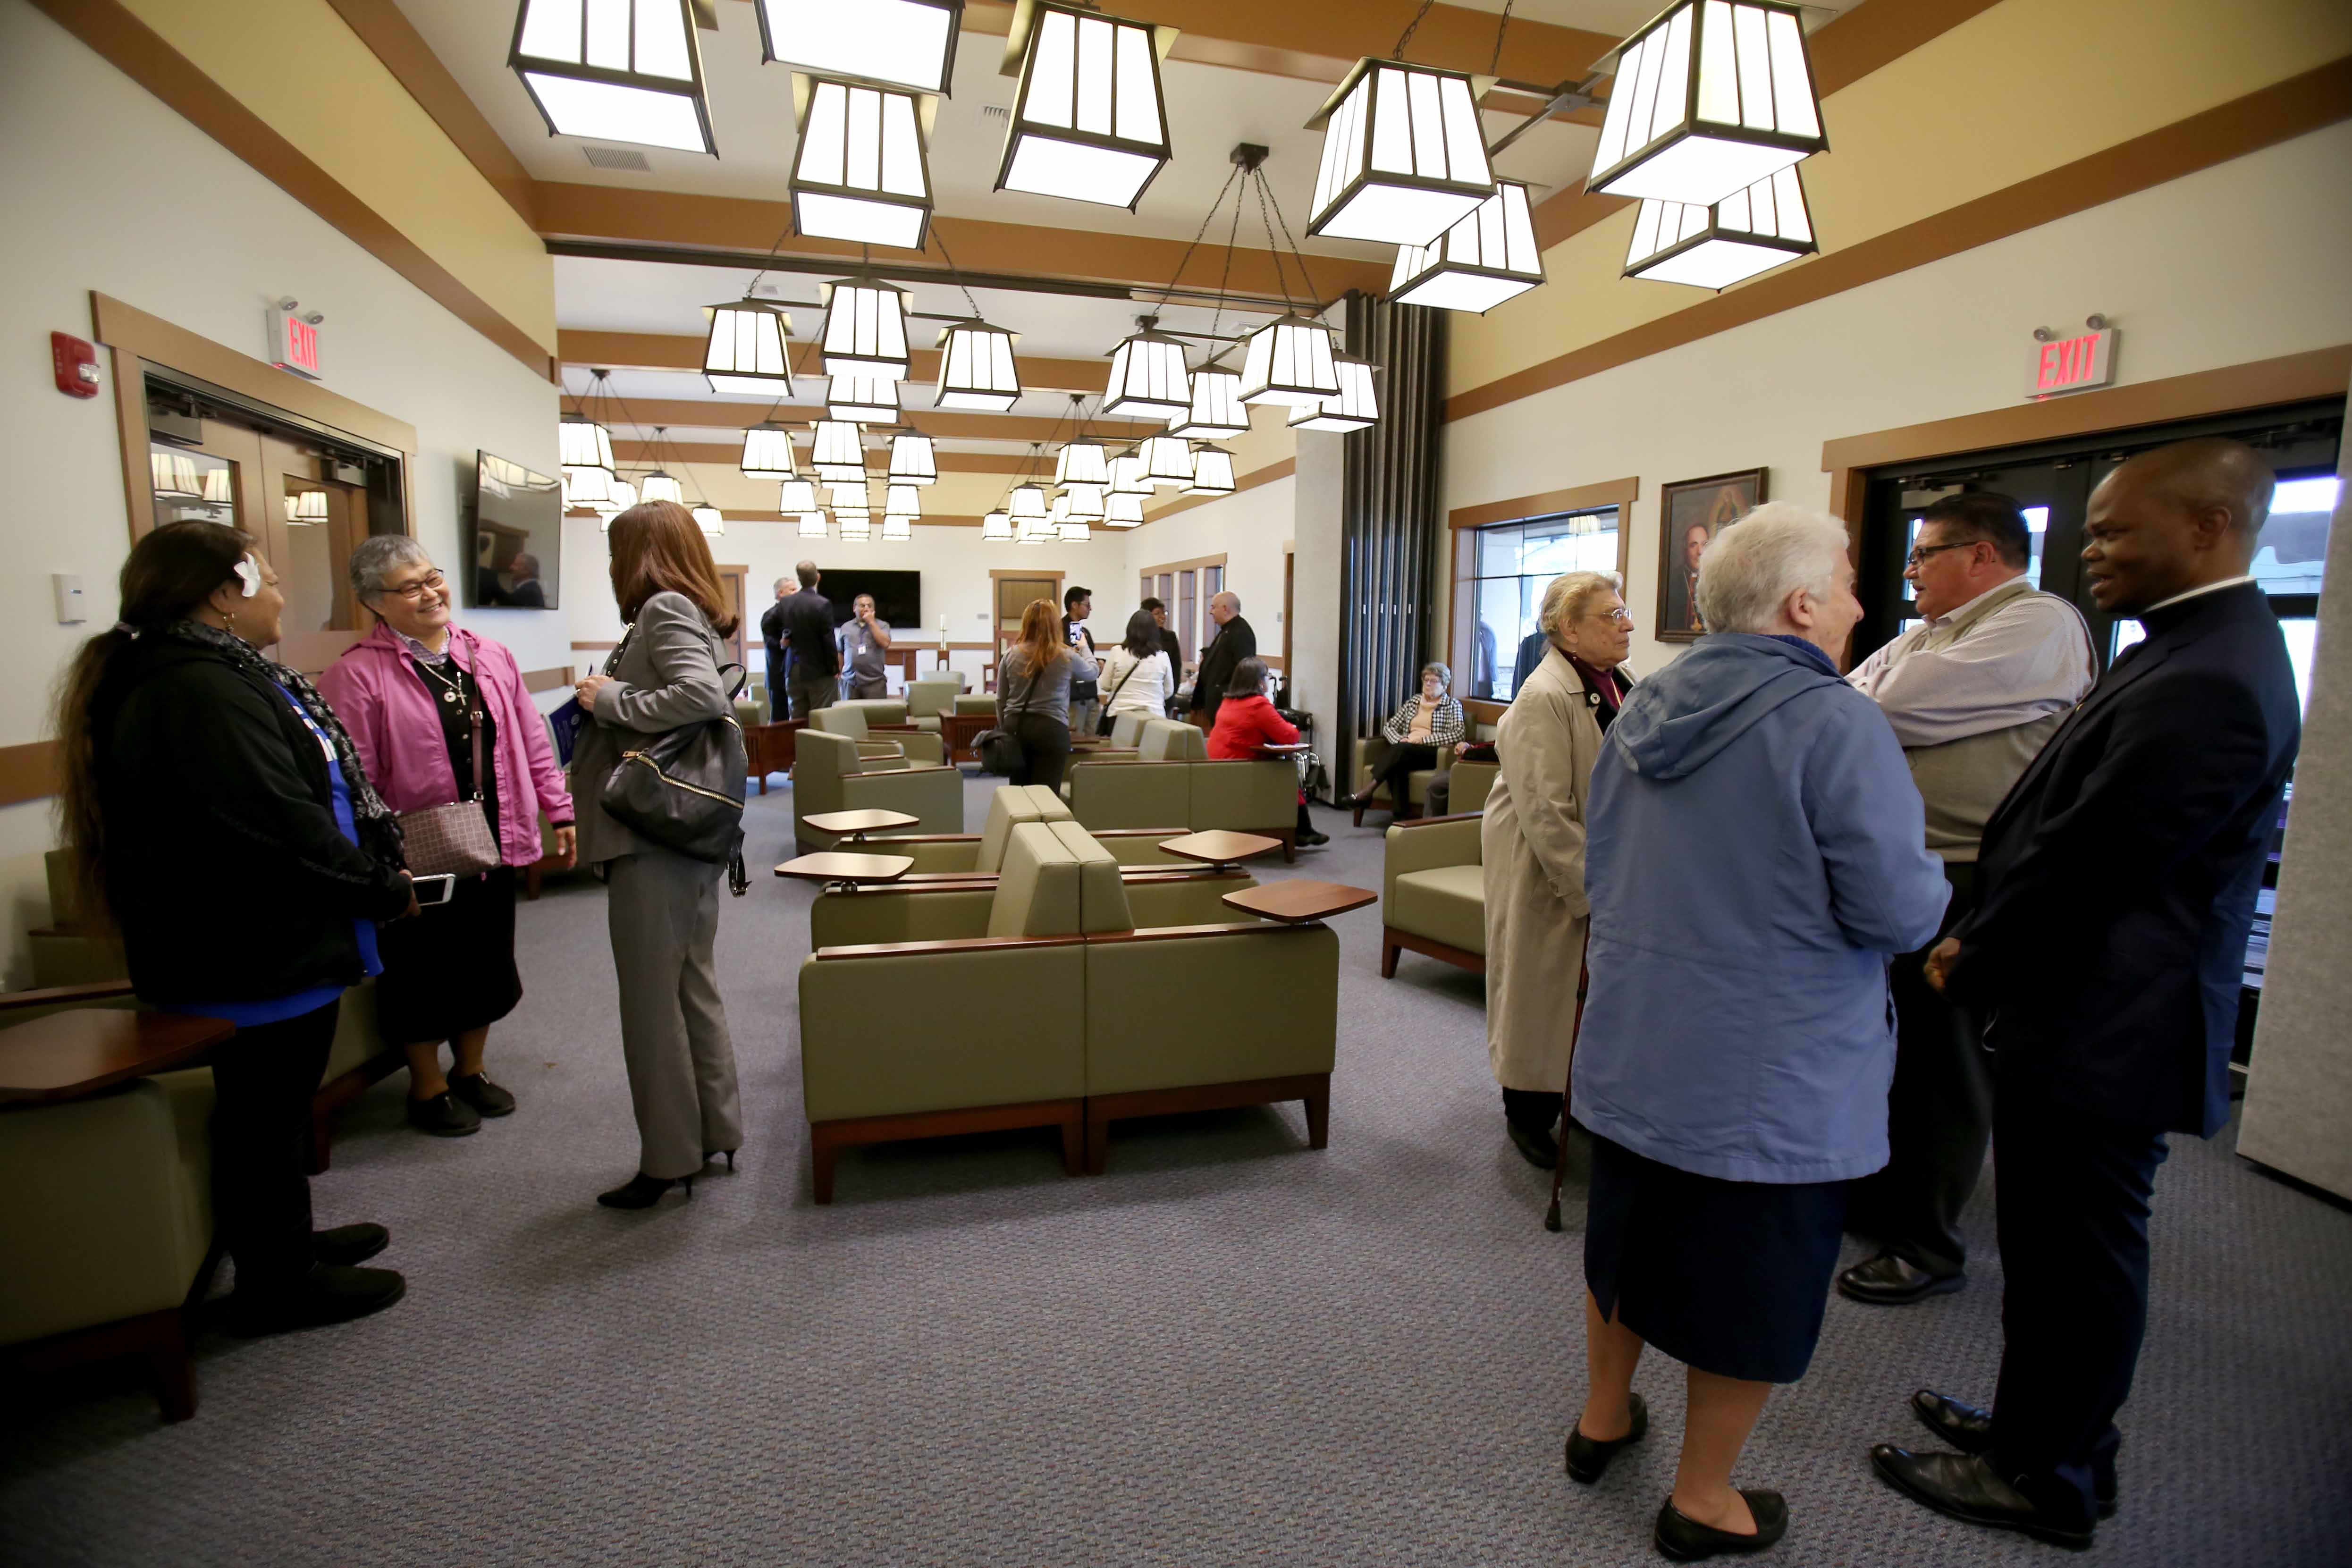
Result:
M327 1072L343 999L238 1030L212 1060L212 1213L238 1260L238 1293L292 1288L310 1272L310 1095Z

